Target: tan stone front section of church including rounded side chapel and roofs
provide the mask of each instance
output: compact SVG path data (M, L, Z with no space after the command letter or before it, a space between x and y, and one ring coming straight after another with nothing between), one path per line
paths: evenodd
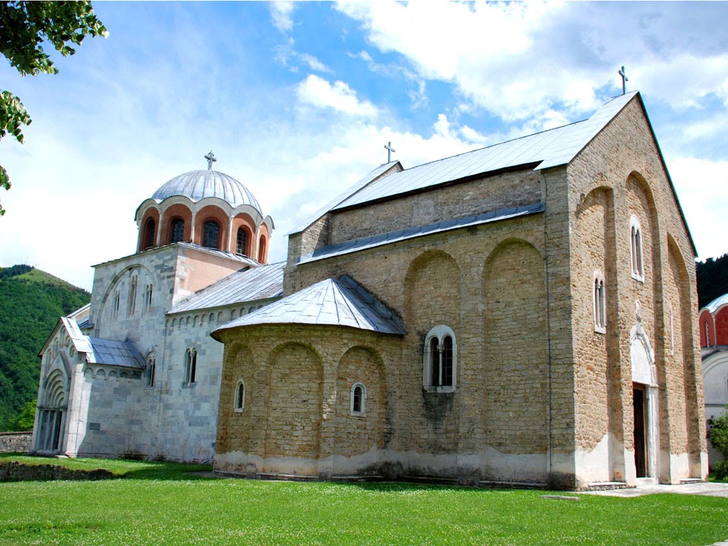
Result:
M703 479L695 255L638 92L381 165L290 232L282 299L213 331L215 470Z

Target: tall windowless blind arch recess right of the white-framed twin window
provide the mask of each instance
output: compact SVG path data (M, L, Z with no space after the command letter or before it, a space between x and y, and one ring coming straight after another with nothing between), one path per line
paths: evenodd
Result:
M481 426L493 438L491 446L510 453L523 443L513 416L521 414L527 401L529 446L544 465L549 442L545 278L542 254L526 240L502 240L486 258L481 373L487 381L480 409Z

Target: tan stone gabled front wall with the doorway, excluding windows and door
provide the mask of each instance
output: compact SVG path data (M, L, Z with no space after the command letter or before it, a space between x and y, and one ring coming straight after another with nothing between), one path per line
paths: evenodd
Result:
M692 248L660 152L638 101L633 100L569 165L571 286L577 384L580 478L632 480L632 375L628 333L641 326L654 349L657 446L654 478L676 483L701 477L705 451L697 350ZM604 213L602 212L604 211ZM638 218L643 278L634 278L630 218ZM601 217L604 218L601 218ZM601 224L601 227L600 227ZM601 236L604 234L604 237ZM600 240L604 240L603 245ZM593 328L593 270L604 264L606 335ZM591 332L590 332L591 330ZM604 349L598 345L604 344ZM606 363L609 363L606 365ZM608 403L604 418L604 392ZM607 433L608 431L608 433ZM607 464L604 464L604 463ZM601 473L591 469L601 468Z

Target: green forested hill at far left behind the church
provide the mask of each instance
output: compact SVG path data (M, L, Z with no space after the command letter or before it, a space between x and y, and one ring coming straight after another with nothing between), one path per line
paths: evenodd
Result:
M38 352L60 316L91 300L52 274L31 266L0 269L0 431L38 393Z

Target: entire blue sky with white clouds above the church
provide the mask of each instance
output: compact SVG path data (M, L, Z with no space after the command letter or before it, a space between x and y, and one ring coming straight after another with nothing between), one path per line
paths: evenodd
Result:
M285 233L394 157L419 165L584 119L640 90L700 258L728 252L728 3L98 2L107 39L0 87L33 123L0 141L0 266L90 288L135 250L136 207L217 170Z

